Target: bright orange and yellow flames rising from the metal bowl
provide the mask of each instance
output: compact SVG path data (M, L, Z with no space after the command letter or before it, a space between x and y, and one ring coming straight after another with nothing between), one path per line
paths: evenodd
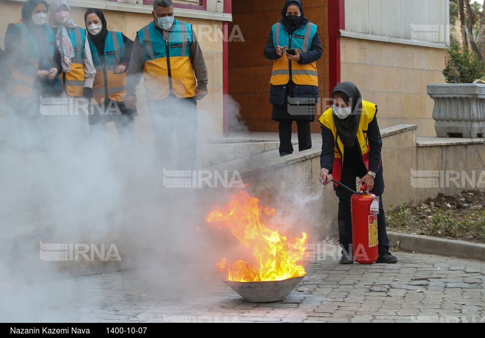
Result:
M305 252L307 234L303 233L303 238L288 242L277 231L267 229L261 221L262 208L258 202L257 198L239 190L222 209L216 207L207 216L207 222L230 229L241 243L253 250L259 267L243 260L227 264L225 258L216 266L220 271L227 270L226 280L232 281L283 280L306 275L305 269L297 265L297 261L308 257ZM264 212L273 215L274 209L267 207Z

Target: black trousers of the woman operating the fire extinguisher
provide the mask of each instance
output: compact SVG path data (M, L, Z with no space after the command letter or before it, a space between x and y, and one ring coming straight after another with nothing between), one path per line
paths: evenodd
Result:
M362 178L367 174L367 170L359 155L344 156L343 173L341 183L351 189L356 189L356 178ZM349 158L350 157L350 158ZM382 177L382 163L374 179L374 187L370 191L379 197L379 214L377 215L377 239L379 241L379 254L384 250L389 250L389 239L385 230L385 213L382 204L382 193L384 192L384 179ZM340 246L349 252L349 245L352 244L352 213L351 197L352 193L341 186L335 187L335 194L338 197L338 235L340 237ZM352 256L352 252L349 252Z

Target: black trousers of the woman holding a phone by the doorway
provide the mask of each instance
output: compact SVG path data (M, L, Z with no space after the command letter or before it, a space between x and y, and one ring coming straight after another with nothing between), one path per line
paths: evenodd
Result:
M300 151L312 148L311 121L296 120L298 128L298 147ZM293 154L292 125L289 119L279 120L279 155Z

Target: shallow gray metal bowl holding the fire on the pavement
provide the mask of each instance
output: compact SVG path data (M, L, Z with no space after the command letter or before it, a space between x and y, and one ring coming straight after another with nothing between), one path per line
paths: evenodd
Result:
M280 301L297 287L305 276L272 281L230 281L224 283L248 302L268 303Z

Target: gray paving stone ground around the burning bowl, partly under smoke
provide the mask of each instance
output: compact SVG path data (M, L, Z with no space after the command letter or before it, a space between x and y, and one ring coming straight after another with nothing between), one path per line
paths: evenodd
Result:
M274 303L249 303L221 276L181 264L46 280L9 293L19 309L3 315L14 321L113 323L485 322L485 263L395 254L396 264L317 259L302 283Z

